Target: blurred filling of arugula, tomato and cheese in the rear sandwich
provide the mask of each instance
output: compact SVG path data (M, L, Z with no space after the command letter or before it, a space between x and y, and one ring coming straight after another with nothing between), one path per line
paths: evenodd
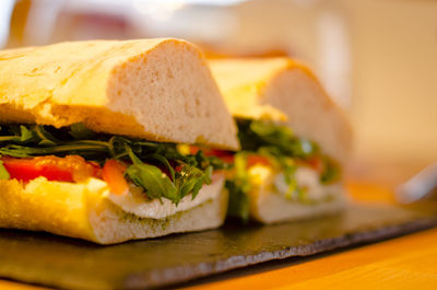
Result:
M285 202L316 205L339 196L340 165L315 142L282 125L237 119L241 151L228 174L228 214L248 220L250 196L271 193Z

